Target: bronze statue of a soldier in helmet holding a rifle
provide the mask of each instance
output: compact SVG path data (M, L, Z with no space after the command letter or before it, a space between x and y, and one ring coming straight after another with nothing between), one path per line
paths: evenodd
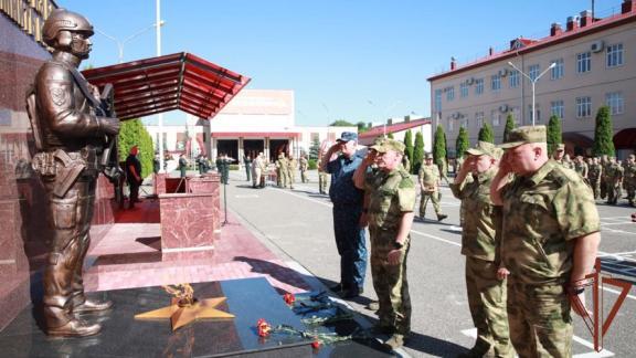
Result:
M26 108L38 149L33 168L46 190L54 230L44 267L44 329L51 336L91 336L100 326L78 315L108 309L112 303L86 298L82 267L103 151L107 138L118 134L119 120L104 113L97 88L77 71L91 52L88 20L57 9L42 33L53 57L38 72Z

